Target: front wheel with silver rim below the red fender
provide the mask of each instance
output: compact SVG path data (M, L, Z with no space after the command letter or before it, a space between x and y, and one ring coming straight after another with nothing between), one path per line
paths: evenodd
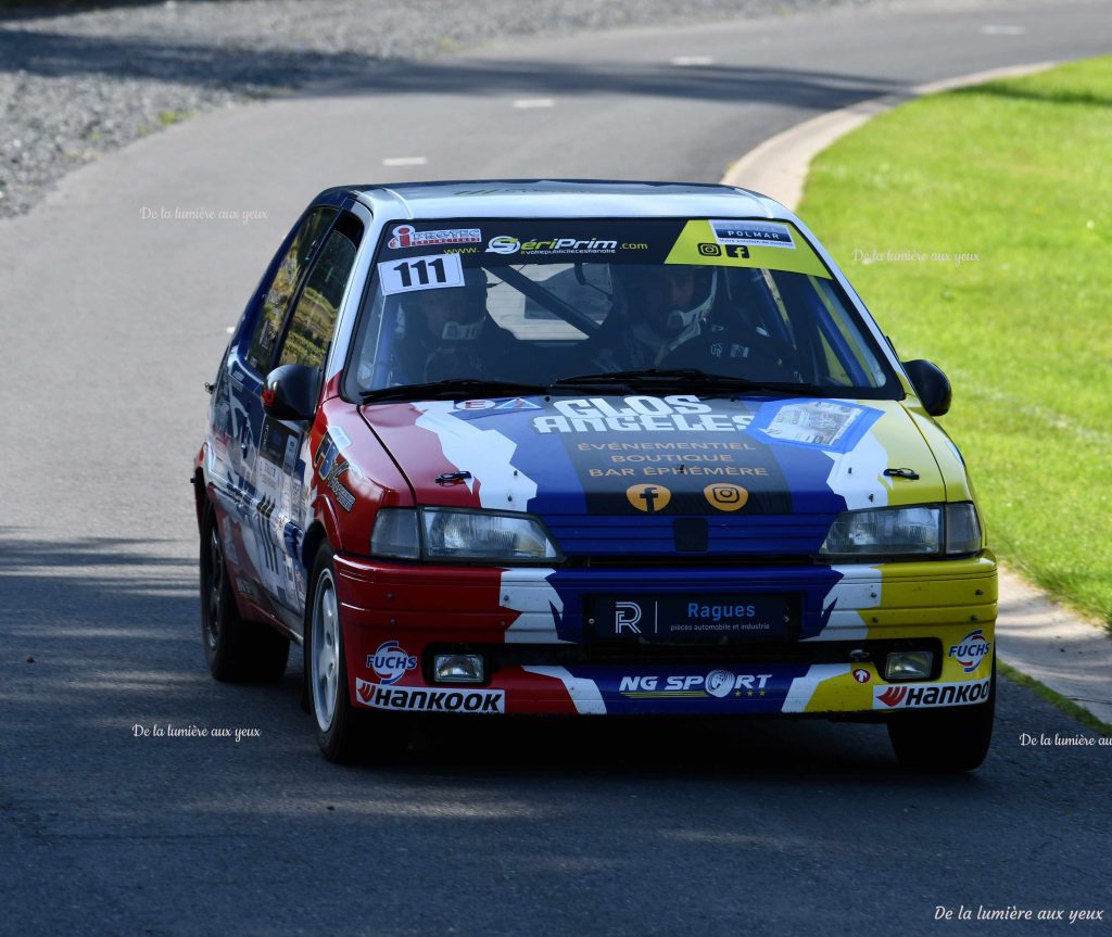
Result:
M305 602L305 692L309 715L317 744L329 761L387 761L405 748L406 732L397 715L368 712L351 704L332 557L332 548L321 545Z

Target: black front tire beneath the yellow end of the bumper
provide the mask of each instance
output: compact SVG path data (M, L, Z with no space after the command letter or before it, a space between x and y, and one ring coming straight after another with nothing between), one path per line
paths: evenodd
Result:
M996 715L996 655L987 702L937 711L901 712L888 720L888 739L901 766L914 771L957 774L984 761Z

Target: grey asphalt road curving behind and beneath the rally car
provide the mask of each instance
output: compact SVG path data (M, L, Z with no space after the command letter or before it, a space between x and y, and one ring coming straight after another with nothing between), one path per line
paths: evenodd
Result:
M520 42L172 127L0 222L0 934L1106 927L1069 914L1112 910L1112 747L1023 745L1092 734L1006 681L957 778L824 722L469 724L330 766L299 655L279 686L208 678L186 482L226 329L328 185L712 181L816 112L1110 39L1106 4L1056 3Z

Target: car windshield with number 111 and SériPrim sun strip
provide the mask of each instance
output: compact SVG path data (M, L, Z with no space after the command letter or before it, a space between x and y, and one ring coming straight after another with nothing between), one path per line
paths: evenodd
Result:
M351 398L431 395L440 382L476 396L504 383L512 396L644 380L662 391L903 395L838 283L785 222L386 226L345 378Z

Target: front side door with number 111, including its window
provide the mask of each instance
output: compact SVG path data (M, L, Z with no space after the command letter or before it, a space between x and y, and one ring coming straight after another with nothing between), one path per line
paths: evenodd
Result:
M340 213L314 258L281 337L276 367L301 365L315 369L318 392L363 231L363 222L354 215ZM300 630L305 611L301 544L309 524L306 467L312 461L308 452L310 425L264 413L255 467L252 505L268 570L262 585L279 615L295 630Z

